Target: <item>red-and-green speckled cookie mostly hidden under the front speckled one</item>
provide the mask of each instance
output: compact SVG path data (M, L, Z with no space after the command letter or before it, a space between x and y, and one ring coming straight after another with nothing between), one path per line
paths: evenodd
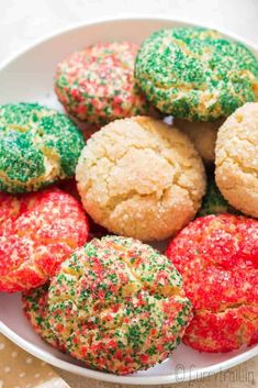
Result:
M49 345L63 351L58 337L54 334L49 323L48 315L48 284L42 287L24 291L22 293L22 308L25 317L43 340Z

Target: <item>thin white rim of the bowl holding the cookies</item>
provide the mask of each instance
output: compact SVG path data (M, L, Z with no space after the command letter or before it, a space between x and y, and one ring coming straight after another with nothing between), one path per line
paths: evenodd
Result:
M229 37L235 41L239 41L244 43L246 46L248 46L253 52L256 52L258 55L258 45L255 43L250 42L249 40L243 38L242 36L232 33L231 31L226 29L221 29L216 27L214 25L206 25L205 23L198 23L198 22L192 22L189 19L181 19L181 18L169 18L169 16L164 16L161 14L157 15L152 15L152 14L144 14L144 15L133 15L133 14L121 14L117 16L105 16L105 18L97 18L97 19L91 19L87 22L81 22L81 23L72 23L66 29L58 29L49 34L46 34L45 36L35 40L29 45L23 46L20 51L15 51L12 55L8 56L5 60L0 62L0 73L3 71L9 65L12 64L12 62L19 59L21 56L27 54L31 49L34 49L42 44L45 44L49 42L52 38L61 36L65 34L68 34L69 32L72 32L75 30L83 30L85 27L91 26L91 25L97 25L97 24L106 24L106 23L115 23L115 22L134 22L134 21L147 21L147 22L171 22L171 23L179 23L182 25L189 25L189 26L204 26L207 29L215 29L220 31L223 35L226 37ZM88 369L86 367L81 367L75 364L71 364L69 362L58 359L54 355L49 354L47 351L41 350L38 346L30 343L29 341L24 340L22 336L13 332L11 329L9 329L1 320L0 320L0 333L5 335L9 340L14 342L16 345L19 345L21 348L23 348L26 352L30 352L32 355L35 357L52 364L53 366L56 366L58 368L61 368L64 370L81 375L85 377L98 379L98 380L103 380L103 381L109 381L109 383L120 383L120 384L126 384L126 385L156 385L156 384L172 384L172 383L182 383L182 381L189 381L189 380L194 380L198 378L203 378L210 377L211 375L214 375L216 373L221 373L225 369L228 369L233 366L236 366L238 364L242 364L246 362L249 358L253 358L258 355L258 344L255 345L255 347L249 348L243 354L238 354L236 356L233 356L232 358L221 362L218 364L214 364L212 366L206 366L203 368L197 368L197 369L189 369L187 372L179 372L172 375L160 375L160 376L119 376L114 374L108 374L99 370L93 370L93 369Z

